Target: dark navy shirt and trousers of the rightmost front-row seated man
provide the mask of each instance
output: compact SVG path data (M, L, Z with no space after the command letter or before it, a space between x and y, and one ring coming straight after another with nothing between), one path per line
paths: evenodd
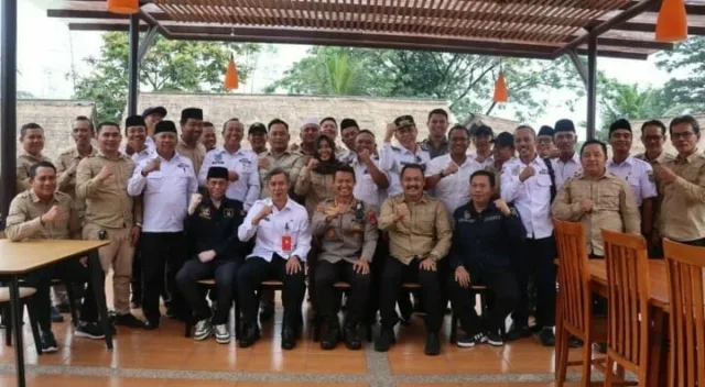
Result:
M459 317L463 330L471 335L500 330L507 314L514 309L519 299L517 279L512 270L512 246L523 242L527 230L517 209L510 209L511 214L505 215L494 202L490 202L482 212L477 212L470 201L453 213L455 229L449 255L452 273L464 266L470 274L473 285L485 285L495 296L488 327L481 327L481 321L475 312L475 298L470 297L470 289L462 287L453 274L453 309Z

